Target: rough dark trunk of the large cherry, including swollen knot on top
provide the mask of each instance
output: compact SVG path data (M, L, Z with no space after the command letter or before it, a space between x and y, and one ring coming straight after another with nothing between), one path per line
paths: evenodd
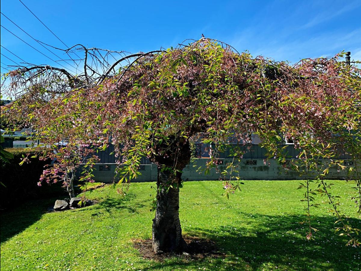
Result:
M167 146L166 155L154 158L158 165L157 208L152 227L153 251L156 254L182 252L187 248L179 221L179 184L182 181L179 171L189 163L190 158L188 141L175 141ZM164 167L176 171L164 170Z

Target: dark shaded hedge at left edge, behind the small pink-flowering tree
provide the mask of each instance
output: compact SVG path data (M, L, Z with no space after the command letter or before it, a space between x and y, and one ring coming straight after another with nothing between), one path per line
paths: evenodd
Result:
M57 184L38 186L39 177L44 166L51 161L39 160L39 151L30 151L30 163L19 165L23 156L29 154L26 149L6 149L14 155L10 163L1 160L1 182L5 185L0 188L1 210L19 205L27 199L39 199L55 195L66 195L61 188L61 182ZM30 158L30 156L36 156Z

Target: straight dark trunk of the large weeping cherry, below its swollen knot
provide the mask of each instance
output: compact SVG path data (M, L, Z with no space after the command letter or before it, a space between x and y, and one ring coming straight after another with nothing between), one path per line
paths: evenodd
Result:
M174 176L169 171L160 171L157 178L157 209L153 219L153 251L156 254L165 252L181 252L186 249L186 242L182 237L182 228L179 221L179 184L182 173ZM173 188L164 185L173 181Z

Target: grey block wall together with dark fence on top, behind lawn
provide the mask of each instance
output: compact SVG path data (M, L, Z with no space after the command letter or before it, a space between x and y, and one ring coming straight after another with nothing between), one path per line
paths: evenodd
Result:
M259 138L253 138L254 142L257 143ZM208 147L209 144L197 143L195 156L199 159L195 159L193 163L186 166L183 169L182 178L185 181L203 181L203 180L219 180L221 177L220 172L225 170L225 165L232 162L232 157L230 156L230 151L226 150L225 152L218 155L219 161L222 164L218 165L218 170L215 168L210 169L209 174L205 175L204 171L197 171L197 168L205 168L206 162L209 158ZM300 150L295 149L292 144L284 144L285 152L288 158L288 161L292 159L297 162L297 157L300 153ZM307 176L300 176L299 172L292 169L288 169L289 166L284 164L283 166L278 163L275 159L269 159L264 164L264 159L266 156L266 150L261 148L257 144L249 144L242 146L244 148L243 159L238 166L239 177L241 180L295 180L295 179L305 179ZM117 158L113 154L114 146L110 145L105 151L99 151L98 156L100 163L95 165L95 171L93 171L94 178L96 181L100 182L112 182L114 180L114 171L116 169ZM349 159L350 156L344 154L340 150L339 154L335 159L343 159L347 167L353 166L352 160ZM327 159L319 159L318 163L321 165L326 165L329 163ZM142 173L136 180L136 182L144 181L156 181L157 180L157 166L149 161L147 158L142 158L141 166L139 171ZM361 161L359 163L361 166ZM238 174L238 173L237 173ZM236 174L232 176L226 176L226 178L235 177ZM317 176L316 172L309 172L309 178L315 178ZM344 170L338 170L336 167L332 167L329 170L327 175L328 179L343 179L346 178L347 174Z

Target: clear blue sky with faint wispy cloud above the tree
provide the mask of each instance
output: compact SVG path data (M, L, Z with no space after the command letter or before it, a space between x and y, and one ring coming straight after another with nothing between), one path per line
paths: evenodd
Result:
M238 51L275 60L296 62L342 50L361 60L360 0L22 1L69 46L81 43L135 53L177 46L204 34ZM1 0L1 12L35 39L65 47L18 0ZM51 56L3 15L1 25ZM58 66L2 27L1 45L29 63ZM1 53L21 62L3 47ZM2 55L1 62L1 66L12 64Z

